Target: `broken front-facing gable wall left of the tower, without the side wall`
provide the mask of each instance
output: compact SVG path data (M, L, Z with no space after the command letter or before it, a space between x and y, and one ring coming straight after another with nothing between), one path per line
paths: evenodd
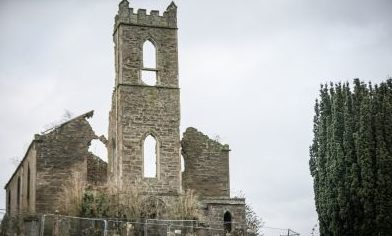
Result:
M64 199L63 188L78 175L78 181L97 184L106 181L106 163L88 151L97 139L89 122L93 112L78 116L55 127L49 133L36 135L37 176L36 209L54 212Z

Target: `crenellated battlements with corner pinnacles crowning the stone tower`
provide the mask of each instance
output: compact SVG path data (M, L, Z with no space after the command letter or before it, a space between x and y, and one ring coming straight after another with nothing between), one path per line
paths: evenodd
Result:
M129 7L129 2L122 0L115 17L114 31L117 30L120 24L177 29L177 6L174 2L171 2L163 16L160 16L159 11L156 10L147 14L145 9L138 9L135 13L133 8Z

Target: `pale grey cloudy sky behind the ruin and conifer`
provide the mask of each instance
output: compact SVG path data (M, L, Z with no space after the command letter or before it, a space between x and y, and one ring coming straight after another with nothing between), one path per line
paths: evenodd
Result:
M161 12L169 3L131 1ZM231 188L266 226L309 235L317 223L308 170L314 100L321 83L392 75L392 2L176 3L181 130L194 126L230 144ZM0 0L1 186L33 135L65 110L95 110L91 123L106 135L117 4Z

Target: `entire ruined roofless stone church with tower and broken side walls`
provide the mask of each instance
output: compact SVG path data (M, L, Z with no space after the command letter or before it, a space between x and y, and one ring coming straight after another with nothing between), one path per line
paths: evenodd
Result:
M153 191L163 203L192 189L207 223L227 232L245 224L245 200L230 196L229 146L195 128L180 138L177 30L173 2L160 15L134 12L127 0L121 1L113 32L108 137L98 137L89 125L93 111L35 135L5 186L8 215L53 213L62 198L60 186L79 173L91 185ZM149 50L153 60L146 57ZM108 163L88 151L94 139L106 145ZM152 160L146 158L147 140L155 147Z

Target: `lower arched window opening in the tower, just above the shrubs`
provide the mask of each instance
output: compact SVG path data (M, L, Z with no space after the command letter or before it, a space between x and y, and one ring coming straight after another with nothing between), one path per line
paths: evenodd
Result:
M144 164L144 177L156 178L157 177L157 141L152 135L148 135L143 144L143 164Z

